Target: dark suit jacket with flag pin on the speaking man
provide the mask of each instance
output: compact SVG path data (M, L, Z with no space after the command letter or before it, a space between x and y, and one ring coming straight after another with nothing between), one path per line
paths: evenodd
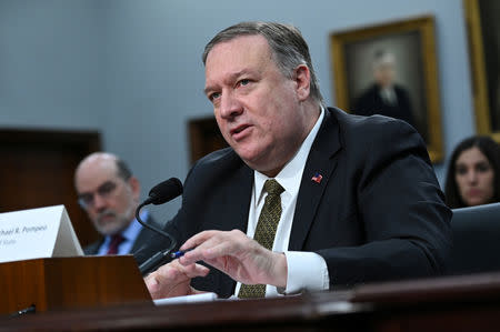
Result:
M320 183L311 181L317 172ZM253 171L232 149L204 157L166 230L179 244L203 230L246 232L252 184ZM414 129L329 109L303 171L289 250L324 258L331 289L434 275L449 253L450 219ZM212 269L191 284L229 296L236 282Z

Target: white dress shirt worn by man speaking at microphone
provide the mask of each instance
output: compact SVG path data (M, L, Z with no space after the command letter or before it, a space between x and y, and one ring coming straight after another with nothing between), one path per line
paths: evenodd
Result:
M330 279L328 275L328 268L324 259L314 252L303 251L288 251L288 243L292 228L293 214L296 211L297 197L299 194L300 182L302 180L303 169L308 160L309 151L312 142L318 134L321 122L324 118L324 110L321 109L320 117L308 134L302 145L297 151L296 155L284 165L284 168L276 175L276 179L284 191L281 193L281 219L278 223L274 243L272 251L283 252L287 256L288 275L287 288L278 289L272 285L267 285L266 296L276 296L279 294L299 293L307 289L328 290ZM311 174L311 178L314 174ZM253 239L257 223L259 221L260 211L264 204L267 192L263 191L266 177L258 171L253 172L253 189L250 202L250 211L248 215L247 235ZM298 221L300 222L300 221ZM241 283L237 283L234 294L240 291Z

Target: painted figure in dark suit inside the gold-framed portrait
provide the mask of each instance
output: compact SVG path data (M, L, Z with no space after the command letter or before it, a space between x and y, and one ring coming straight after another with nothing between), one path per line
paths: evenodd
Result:
M381 114L400 119L416 128L410 95L394 82L396 59L390 52L379 50L373 58L374 82L354 102L359 115Z

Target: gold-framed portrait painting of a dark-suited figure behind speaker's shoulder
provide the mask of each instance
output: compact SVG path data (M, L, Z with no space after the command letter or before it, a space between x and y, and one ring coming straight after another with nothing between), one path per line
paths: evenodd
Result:
M442 160L434 19L418 17L330 34L334 97L360 115L403 120Z

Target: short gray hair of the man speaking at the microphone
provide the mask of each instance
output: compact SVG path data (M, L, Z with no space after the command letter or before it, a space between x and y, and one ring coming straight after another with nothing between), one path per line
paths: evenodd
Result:
M321 95L319 82L312 68L308 43L299 29L293 26L258 21L241 22L226 28L217 33L204 47L202 56L203 64L207 64L207 57L216 44L240 36L254 34L260 34L266 38L271 48L273 60L284 77L292 79L293 70L300 64L306 64L309 68L311 74L311 97L318 103L323 104L323 97Z

